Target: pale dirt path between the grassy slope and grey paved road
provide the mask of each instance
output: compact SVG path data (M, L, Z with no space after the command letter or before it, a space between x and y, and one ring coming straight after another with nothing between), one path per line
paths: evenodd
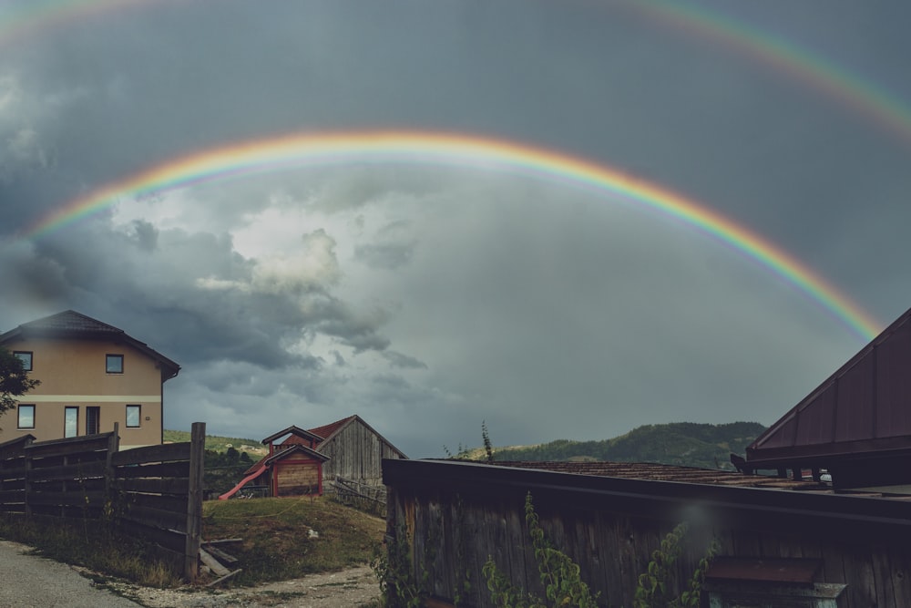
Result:
M270 582L259 587L232 589L149 589L108 583L114 593L148 608L197 606L287 606L288 608L358 608L371 605L380 595L374 572L359 566L342 572L312 574L292 581Z

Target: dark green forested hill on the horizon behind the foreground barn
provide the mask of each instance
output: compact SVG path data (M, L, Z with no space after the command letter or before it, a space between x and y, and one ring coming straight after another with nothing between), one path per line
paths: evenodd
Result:
M744 449L765 427L758 422L711 425L673 422L634 428L603 441L558 439L537 446L494 448L495 460L613 460L733 469L731 452ZM480 458L484 458L481 450ZM478 458L478 454L471 455Z

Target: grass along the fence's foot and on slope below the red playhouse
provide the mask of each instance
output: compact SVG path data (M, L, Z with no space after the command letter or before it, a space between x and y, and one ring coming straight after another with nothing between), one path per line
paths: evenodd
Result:
M21 542L37 554L149 587L176 587L180 572L168 555L138 541L113 540L89 525L60 520L28 521L0 514L0 539ZM308 531L319 534L311 538ZM240 562L230 584L284 581L315 572L336 572L369 563L382 547L385 521L325 497L211 500L203 504L204 541L241 539L221 545ZM205 582L202 580L200 582Z

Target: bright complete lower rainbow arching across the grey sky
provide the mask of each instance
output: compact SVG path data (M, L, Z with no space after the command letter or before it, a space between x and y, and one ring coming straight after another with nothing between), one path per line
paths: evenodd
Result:
M872 339L881 328L873 317L790 254L717 211L680 194L561 152L455 133L356 131L298 134L206 149L169 160L70 201L36 223L24 236L30 239L46 236L128 197L243 175L353 163L455 165L511 171L537 179L558 180L614 199L631 201L644 210L675 218L742 252L807 294L865 341Z

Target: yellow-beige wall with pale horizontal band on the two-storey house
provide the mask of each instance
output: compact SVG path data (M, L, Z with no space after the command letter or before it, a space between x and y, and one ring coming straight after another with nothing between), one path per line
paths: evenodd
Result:
M87 407L99 407L98 432L114 430L121 448L158 445L162 434L161 370L135 348L107 341L30 339L4 345L32 352L31 377L41 385L20 403L35 405L35 428L16 428L16 410L0 416L0 442L32 434L38 441L64 437L67 406L78 407L78 435L86 434ZM123 373L107 374L106 355L123 355ZM127 427L127 405L140 406L139 427Z

